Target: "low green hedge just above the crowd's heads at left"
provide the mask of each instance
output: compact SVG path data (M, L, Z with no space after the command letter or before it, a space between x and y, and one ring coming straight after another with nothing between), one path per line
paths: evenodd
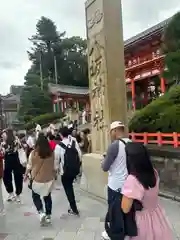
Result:
M46 113L40 116L33 118L31 121L27 122L24 126L25 129L30 130L35 128L35 124L38 123L41 126L50 124L56 120L60 120L64 117L62 113Z

